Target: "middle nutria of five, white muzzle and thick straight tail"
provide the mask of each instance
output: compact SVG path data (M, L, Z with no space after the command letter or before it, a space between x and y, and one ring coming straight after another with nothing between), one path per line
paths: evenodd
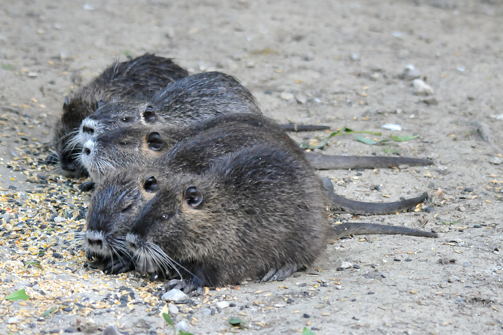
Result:
M248 125L257 129L257 132L254 134L255 138L249 136L246 132L243 133L243 136L246 136L246 139L250 141L249 144L266 141L267 138L273 136L283 145L298 148L298 145L279 128L279 125L262 115L227 113L216 115L200 122L194 122L183 128L169 125L136 125L106 132L102 136L88 140L83 144L80 160L93 181L99 182L106 170L113 170L117 167L132 164L145 164L162 156L164 152L169 151L177 142L196 136L200 132L213 127L227 129L229 132L228 135L231 136L232 134L233 136L232 141L245 145L245 138L239 139L239 132L236 131L242 125ZM237 128L233 129L233 127ZM262 131L265 133L261 133ZM300 152L318 170L350 169L355 167L378 168L391 167L398 164L432 164L430 160L417 158L336 156L307 153L305 151Z

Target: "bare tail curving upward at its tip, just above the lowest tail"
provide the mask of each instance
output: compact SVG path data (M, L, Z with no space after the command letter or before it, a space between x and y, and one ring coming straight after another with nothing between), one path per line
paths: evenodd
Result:
M346 199L339 194L327 190L327 196L330 201L328 207L332 213L351 213L351 214L389 214L406 210L422 203L428 197L428 192L412 199L406 199L395 202L361 202Z

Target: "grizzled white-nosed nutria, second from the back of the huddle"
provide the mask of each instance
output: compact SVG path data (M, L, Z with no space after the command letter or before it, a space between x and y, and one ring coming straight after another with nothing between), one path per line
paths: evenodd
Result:
M82 121L77 137L83 144L120 127L138 123L181 127L229 111L262 114L255 97L237 79L221 72L203 72L167 85L147 101L101 106Z

